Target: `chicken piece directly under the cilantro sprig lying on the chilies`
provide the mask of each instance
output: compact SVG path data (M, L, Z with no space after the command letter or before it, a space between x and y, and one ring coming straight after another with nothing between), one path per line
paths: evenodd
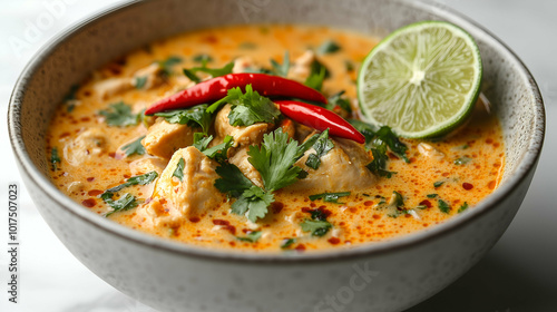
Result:
M229 113L231 105L227 104L216 115L215 131L217 142L222 142L226 135L229 135L234 137L234 147L260 144L263 140L263 135L273 129L273 125L266 123L257 123L247 127L231 126L228 121Z

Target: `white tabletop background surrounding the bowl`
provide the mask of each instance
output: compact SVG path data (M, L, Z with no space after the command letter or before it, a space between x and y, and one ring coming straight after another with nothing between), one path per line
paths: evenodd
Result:
M0 116L6 116L14 81L31 56L68 26L118 1L0 0ZM506 42L531 70L546 103L547 136L538 170L515 221L477 266L451 286L408 310L418 311L557 311L557 1L446 0ZM29 25L58 3L20 48ZM61 6L61 7L60 7ZM3 119L6 120L6 119ZM22 185L9 147L6 121L0 136L0 311L139 311L147 308L106 284L77 261L42 221ZM8 184L17 183L20 204L19 303L8 303Z

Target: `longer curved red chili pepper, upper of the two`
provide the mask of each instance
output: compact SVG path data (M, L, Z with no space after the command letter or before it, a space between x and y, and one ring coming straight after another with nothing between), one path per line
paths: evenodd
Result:
M252 85L252 88L264 97L282 96L326 103L326 98L317 90L294 80L265 74L229 74L199 82L162 99L147 108L145 115L198 104L211 104L224 98L228 89L244 88L246 85Z

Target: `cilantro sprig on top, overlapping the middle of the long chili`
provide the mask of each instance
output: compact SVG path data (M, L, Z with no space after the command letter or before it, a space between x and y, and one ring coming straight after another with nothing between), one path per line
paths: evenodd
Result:
M254 91L252 85L245 87L245 94L234 91L235 98L228 98L232 105L228 120L232 126L251 126L255 123L273 124L281 111L273 101Z

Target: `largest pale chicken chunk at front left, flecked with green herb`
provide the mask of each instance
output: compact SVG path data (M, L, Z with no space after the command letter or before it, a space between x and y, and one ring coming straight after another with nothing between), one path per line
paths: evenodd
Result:
M182 179L175 176L180 159L184 159ZM224 203L225 195L214 186L218 178L216 166L216 162L193 146L176 150L155 184L152 201L138 213L149 216L155 226L177 226Z

